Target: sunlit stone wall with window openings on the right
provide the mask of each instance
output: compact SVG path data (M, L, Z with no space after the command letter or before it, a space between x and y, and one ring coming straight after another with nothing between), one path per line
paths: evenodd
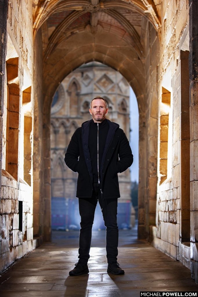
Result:
M155 247L190 268L188 3L164 2L159 41L153 28L148 28L148 146L158 147L158 154L150 150L147 160L148 212L156 212L156 222L154 217L148 222L156 227L148 230ZM158 110L152 108L153 102Z

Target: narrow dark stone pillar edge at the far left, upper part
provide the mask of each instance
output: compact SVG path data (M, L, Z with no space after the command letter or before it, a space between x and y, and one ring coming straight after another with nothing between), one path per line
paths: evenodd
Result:
M4 82L7 48L7 8L8 0L0 0L0 172L2 164L2 128L4 106ZM1 187L1 174L0 174Z

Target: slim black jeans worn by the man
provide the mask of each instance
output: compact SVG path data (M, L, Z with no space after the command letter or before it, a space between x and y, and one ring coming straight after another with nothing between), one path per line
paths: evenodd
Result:
M79 262L87 263L90 257L91 233L94 223L94 214L97 202L99 202L106 227L106 251L107 262L117 261L118 256L118 226L117 226L117 207L118 199L102 199L98 184L94 183L92 198L79 198L80 213L80 236L79 236Z

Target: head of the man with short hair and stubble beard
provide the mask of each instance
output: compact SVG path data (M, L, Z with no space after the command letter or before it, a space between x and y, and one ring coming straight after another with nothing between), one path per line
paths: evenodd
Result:
M94 99L91 103L91 108L89 108L89 112L95 123L102 123L106 118L108 108L106 109L104 100Z

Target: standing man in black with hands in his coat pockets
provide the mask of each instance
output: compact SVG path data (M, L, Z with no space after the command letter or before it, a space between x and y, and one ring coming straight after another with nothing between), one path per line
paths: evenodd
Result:
M65 154L66 165L78 173L76 197L81 218L79 260L69 275L89 272L87 263L97 202L106 227L107 272L124 274L117 263L118 173L132 165L133 155L123 130L106 119L107 102L102 97L91 101L89 112L92 119L76 129Z

